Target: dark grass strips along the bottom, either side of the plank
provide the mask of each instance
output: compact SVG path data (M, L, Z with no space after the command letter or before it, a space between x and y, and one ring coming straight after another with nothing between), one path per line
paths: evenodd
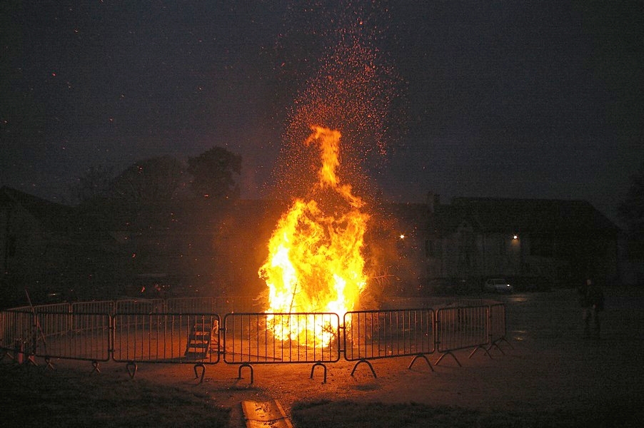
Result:
M86 371L0 364L4 422L21 427L228 427L229 407L177 387ZM585 409L492 411L421 403L304 400L296 428L640 427L642 397L611 398Z

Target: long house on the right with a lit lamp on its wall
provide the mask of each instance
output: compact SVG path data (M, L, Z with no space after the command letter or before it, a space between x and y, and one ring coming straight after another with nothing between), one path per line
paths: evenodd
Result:
M426 275L618 282L619 228L583 200L428 200Z

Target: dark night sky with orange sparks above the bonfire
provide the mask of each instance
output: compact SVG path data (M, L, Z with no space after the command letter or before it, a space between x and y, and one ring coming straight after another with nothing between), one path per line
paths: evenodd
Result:
M388 200L583 199L615 220L644 161L644 4L588 3L3 1L0 183L65 201L92 166L223 146L266 196L351 41L373 79L343 76L359 102L321 124L350 116Z

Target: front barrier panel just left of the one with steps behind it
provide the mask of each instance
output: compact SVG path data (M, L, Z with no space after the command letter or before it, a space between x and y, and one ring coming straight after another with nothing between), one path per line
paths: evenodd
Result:
M36 340L36 356L44 357L48 365L51 358L88 360L98 363L110 358L109 314L36 313L39 325L48 323L67 326L56 334L44 335ZM94 366L97 367L96 365Z

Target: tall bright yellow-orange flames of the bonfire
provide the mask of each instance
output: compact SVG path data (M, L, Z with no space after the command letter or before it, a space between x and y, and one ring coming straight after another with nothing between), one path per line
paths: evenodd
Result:
M353 310L366 284L361 248L368 215L361 213L363 201L351 193L351 185L341 185L336 175L340 132L311 129L305 144L318 143L321 148L316 193L331 190L325 201L335 203L324 210L322 201L295 200L273 231L259 275L268 285L267 313L333 312L343 317ZM273 335L280 340L316 336L327 345L333 339L332 326L315 325L310 318L297 326L279 324Z

